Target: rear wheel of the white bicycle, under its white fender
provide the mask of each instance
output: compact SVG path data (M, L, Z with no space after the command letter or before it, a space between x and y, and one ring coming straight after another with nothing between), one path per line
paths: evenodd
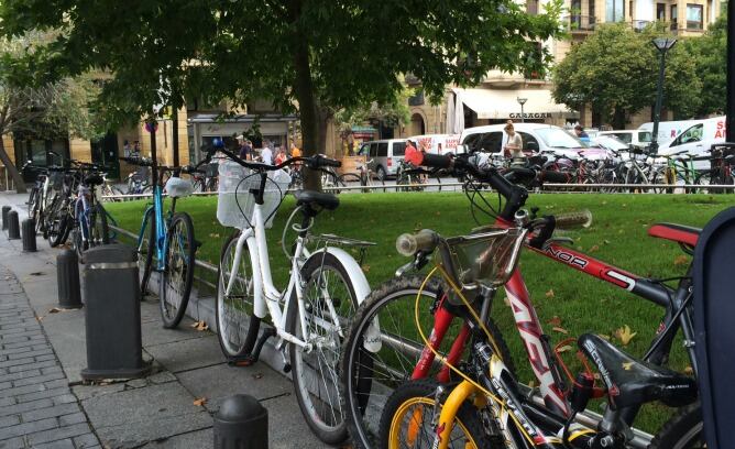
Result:
M347 269L330 253L312 254L301 269L301 280L306 283L303 291L306 316L303 320L307 329L301 329L301 319L298 319L296 292L292 293L286 329L312 344L312 349L307 351L290 346L296 398L317 437L326 443L337 445L348 438L338 390L339 350L358 308L358 296ZM338 322L334 322L331 310Z

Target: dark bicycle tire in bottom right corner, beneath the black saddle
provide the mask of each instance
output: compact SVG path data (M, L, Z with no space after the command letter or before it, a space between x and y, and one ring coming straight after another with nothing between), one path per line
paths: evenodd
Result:
M663 423L650 441L648 449L693 449L704 448L704 424L700 403L680 408L674 416Z

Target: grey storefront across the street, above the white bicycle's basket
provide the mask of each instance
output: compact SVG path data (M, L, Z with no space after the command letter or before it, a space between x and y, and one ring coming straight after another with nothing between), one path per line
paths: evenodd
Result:
M187 120L189 157L193 162L200 161L204 157L201 147L211 144L215 139L221 139L226 146L234 146L238 135L252 133L255 129L261 135L261 139L251 139L256 149L263 140L288 146L294 139L297 120L296 116L281 114L241 114L221 120L213 113L191 114Z

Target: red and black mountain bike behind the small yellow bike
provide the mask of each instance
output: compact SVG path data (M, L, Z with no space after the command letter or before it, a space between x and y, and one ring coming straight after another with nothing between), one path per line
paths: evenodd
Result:
M424 165L430 167L448 167L451 165L457 171L468 172L471 177L492 186L505 199L505 205L502 210L487 210L487 212L496 218L496 228L511 227L516 212L522 211L527 199L525 188L509 184L492 166L480 169L465 158L458 157L450 162L449 158L437 157L426 155ZM544 177L544 174L539 174L539 177ZM471 198L473 209L490 205L486 199L482 198L481 189L473 186L472 182L465 185L465 193ZM478 196L480 196L479 199ZM541 230L539 234L527 240L526 244L538 254L605 281L665 308L666 311L658 335L651 342L644 360L655 365L663 364L668 360L674 335L680 328L684 339L693 341L692 295L689 292L691 286L689 277L682 276L679 278L677 288L672 288L665 284L662 280L650 280L635 275L564 245L563 243L568 242L568 239L556 238L552 232L553 225L550 225ZM656 225L649 229L649 234L676 241L682 249L691 250L696 243L699 231L677 225ZM431 239L416 240L431 241ZM420 249L421 247L417 244L417 248ZM414 270L421 269L428 263L429 253L429 251L417 251L414 261L402 267L396 274L402 275L412 267ZM458 310L457 302L451 299L452 291L448 289L445 286L446 284L437 282L427 284L427 287L423 277L398 277L375 289L355 314L342 349L340 385L343 391L342 397L345 402L344 408L348 415L350 434L359 446L372 447L376 436L376 425L372 419L374 418L374 410L380 410L385 406L385 401L393 388L408 379L426 379L429 375L436 375L439 382L446 383L450 380L448 364L457 366L460 363L471 331L465 322L459 328L454 324L456 327L450 329L450 326L453 326L453 318ZM529 362L539 384L538 390L530 393L542 407L552 414L568 417L570 406L562 393L564 382L560 374L560 368L553 362L553 354L547 337L541 330L541 325L538 321L519 269L513 271L504 287L514 309L516 327L524 340ZM431 329L430 344L419 342L417 337L410 333L409 329L406 328L405 311L401 311L406 309L407 300L412 302L410 304L418 300L416 299L418 295L423 296L423 300L429 300L432 304L430 308L432 316L426 320ZM486 313L490 310L492 303L487 298L492 299L493 295L493 288L480 288L479 292L473 294L472 299L476 297L476 304L482 305L479 315L483 318L486 317L485 327L492 335L493 340L498 342L497 353L505 353L507 351L503 350L506 347L503 337L496 330L492 317ZM403 314L403 318L399 314ZM445 341L448 332L453 339ZM442 342L446 343L443 347ZM443 355L442 361L446 364L437 362L434 351L438 351L439 348L443 348L442 351L446 355ZM696 358L693 348L687 347L687 352L691 365L696 372ZM513 372L512 361L506 357L503 357L503 360L509 366L509 371ZM621 412L619 417L627 425L630 425L637 413L638 407L626 407ZM683 416L691 420L696 418L696 409L683 409L678 417ZM603 419L607 418L610 417L605 415ZM673 430L669 428L668 432L670 435L672 431L679 430L681 430L681 427L674 426ZM659 437L665 437L665 431L667 431L666 426Z

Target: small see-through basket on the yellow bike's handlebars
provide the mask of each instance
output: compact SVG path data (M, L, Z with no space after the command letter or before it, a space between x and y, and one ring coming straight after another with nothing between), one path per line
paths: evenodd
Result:
M518 261L526 230L483 229L470 236L447 239L451 264L462 288L495 287L507 282Z

